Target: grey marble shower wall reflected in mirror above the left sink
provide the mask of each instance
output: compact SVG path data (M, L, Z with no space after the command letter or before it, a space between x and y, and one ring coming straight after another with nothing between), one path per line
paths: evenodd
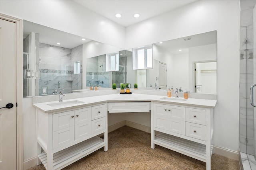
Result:
M81 89L82 73L74 75L73 66L71 64L73 63L72 61L77 60L81 61L82 63L82 60L80 60L82 58L82 47L80 46L73 49L68 49L40 43L40 95L42 95L43 88L48 88L48 95L51 95L54 92L54 88L56 88L58 92L61 89L64 89L64 93L71 93L72 88L78 89L79 86L79 89ZM72 57L74 57L74 59L72 59ZM80 66L80 68L82 68L82 66ZM74 78L74 80L72 78ZM60 86L58 86L58 84L60 84Z

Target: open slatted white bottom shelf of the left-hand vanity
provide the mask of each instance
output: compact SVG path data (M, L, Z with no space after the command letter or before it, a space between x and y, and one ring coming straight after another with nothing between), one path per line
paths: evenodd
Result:
M73 145L72 147L56 152L53 154L53 169L60 170L104 146L104 140L95 136L86 141ZM38 158L47 169L46 152L39 154Z

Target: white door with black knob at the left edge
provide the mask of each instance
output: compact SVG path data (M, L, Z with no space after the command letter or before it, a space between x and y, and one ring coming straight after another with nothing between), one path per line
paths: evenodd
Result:
M14 107L6 107L6 104ZM16 23L0 19L0 170L16 170Z

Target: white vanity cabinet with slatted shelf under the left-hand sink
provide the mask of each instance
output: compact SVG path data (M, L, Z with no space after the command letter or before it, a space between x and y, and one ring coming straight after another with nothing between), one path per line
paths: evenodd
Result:
M62 169L102 147L108 150L106 113L106 104L52 113L36 109L37 164ZM103 139L97 136L102 133Z

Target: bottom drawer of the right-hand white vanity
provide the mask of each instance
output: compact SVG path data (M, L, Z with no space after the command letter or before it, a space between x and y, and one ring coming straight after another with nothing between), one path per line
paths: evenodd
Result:
M186 136L206 141L206 126L186 122Z

